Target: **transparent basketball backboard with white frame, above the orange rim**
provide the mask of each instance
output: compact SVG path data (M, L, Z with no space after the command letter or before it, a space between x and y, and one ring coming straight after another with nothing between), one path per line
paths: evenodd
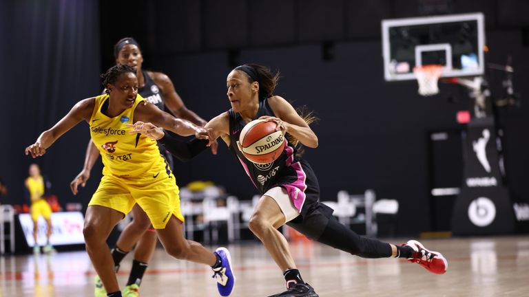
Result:
M413 67L438 64L441 77L484 74L484 15L382 21L382 52L386 80L415 80Z

